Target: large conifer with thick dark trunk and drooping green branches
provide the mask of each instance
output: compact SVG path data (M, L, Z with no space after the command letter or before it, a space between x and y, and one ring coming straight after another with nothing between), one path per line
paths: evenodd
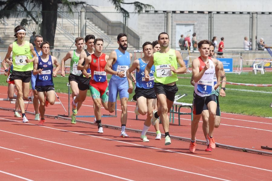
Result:
M114 5L117 11L125 13L129 16L128 11L122 8L122 4L133 4L135 11L142 12L144 9L154 8L151 5L147 5L141 2L132 2L125 3L124 0L110 0ZM27 15L33 19L37 24L37 18L31 14L31 9L28 9L28 5L31 4L31 7L41 7L42 23L40 25L41 35L44 37L44 40L47 40L51 46L54 46L55 32L57 26L57 9L58 4L63 4L68 9L69 12L72 12L72 8L77 5L86 5L83 1L69 1L69 0L0 0L1 9L0 18L9 17L12 11L24 9L27 12ZM2 11L2 10L11 10L11 11ZM4 13L8 12L8 13ZM27 21L23 20L21 23L26 24Z

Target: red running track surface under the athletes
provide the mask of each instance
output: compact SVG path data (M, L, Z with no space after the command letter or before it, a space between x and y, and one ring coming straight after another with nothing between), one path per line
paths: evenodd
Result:
M0 97L6 98L7 87L0 87ZM67 94L58 94L67 109ZM57 101L57 100L56 100ZM118 102L120 103L120 102ZM14 104L0 101L1 107ZM127 128L142 129L143 120L135 120L135 103L129 102ZM120 125L120 105L117 118L102 118L102 124ZM188 110L184 109L185 112ZM34 112L33 105L28 111ZM104 114L109 114L103 110ZM46 118L44 126L37 126L33 115L29 123L13 117L13 112L0 110L0 178L20 180L271 180L272 157L241 151L215 148L205 152L198 144L194 154L189 153L189 142L172 139L165 146L164 138L144 143L140 133L127 132L129 138L120 138L120 130ZM60 104L46 108L46 114L66 114ZM93 115L92 100L87 97L78 115ZM140 116L140 119L144 119ZM182 125L170 125L170 135L190 138L190 116L182 117ZM93 118L78 118L93 121ZM163 129L160 125L160 130ZM154 128L151 127L151 132ZM221 125L215 129L215 141L261 151L261 145L271 147L272 120L253 116L222 113ZM202 122L196 134L204 140ZM14 174L14 175L10 175Z

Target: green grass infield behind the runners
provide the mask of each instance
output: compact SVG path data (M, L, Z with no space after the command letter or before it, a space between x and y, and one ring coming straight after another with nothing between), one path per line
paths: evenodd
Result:
M191 74L181 74L176 82L179 94L187 94L186 97L178 100L179 102L192 103L193 86L190 84ZM108 75L108 80L111 75ZM266 72L264 75L254 75L252 72L243 72L238 74L226 74L228 82L251 83L251 84L272 84L272 72ZM56 92L68 93L68 74L66 77L58 75L54 78ZM6 77L0 75L0 85L7 86ZM219 97L220 108L225 113L237 113L252 116L272 117L272 87L252 87L241 85L226 85L226 97ZM131 100L134 94L130 94ZM88 96L90 93L88 91Z

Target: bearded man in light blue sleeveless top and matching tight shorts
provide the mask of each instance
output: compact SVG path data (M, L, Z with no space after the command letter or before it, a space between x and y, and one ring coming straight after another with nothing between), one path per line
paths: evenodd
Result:
M111 52L105 71L112 74L111 80L108 84L109 96L108 96L108 111L113 113L115 110L115 102L117 94L121 100L121 135L120 137L128 138L125 132L127 123L127 102L128 102L128 79L126 78L127 70L130 65L132 54L127 52L128 40L125 33L120 33L117 36L118 49ZM111 68L112 66L112 68Z

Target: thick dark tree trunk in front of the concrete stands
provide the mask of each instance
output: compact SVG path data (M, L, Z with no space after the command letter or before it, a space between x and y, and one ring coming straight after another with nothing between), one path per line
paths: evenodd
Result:
M50 47L54 47L55 32L57 26L57 0L42 1L42 23L41 35L44 41L50 43Z

